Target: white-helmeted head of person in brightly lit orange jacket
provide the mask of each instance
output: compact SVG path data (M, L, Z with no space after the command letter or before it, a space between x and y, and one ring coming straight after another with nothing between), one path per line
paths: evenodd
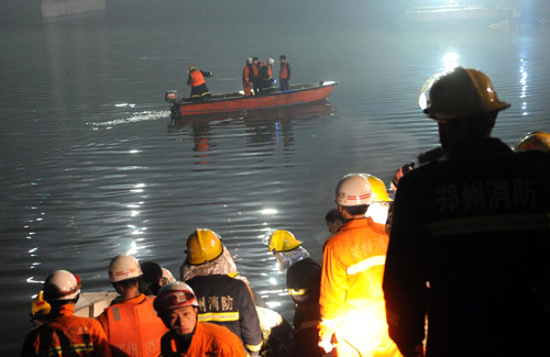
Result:
M344 219L364 216L373 202L373 190L366 174L345 175L336 189L334 202Z

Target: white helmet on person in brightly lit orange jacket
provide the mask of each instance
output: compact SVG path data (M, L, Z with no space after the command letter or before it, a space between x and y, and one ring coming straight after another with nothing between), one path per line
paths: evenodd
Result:
M339 205L362 205L373 202L373 189L365 174L348 174L337 186L334 202Z

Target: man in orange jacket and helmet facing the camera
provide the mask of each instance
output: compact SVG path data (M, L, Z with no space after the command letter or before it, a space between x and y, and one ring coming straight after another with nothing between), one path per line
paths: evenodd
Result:
M199 302L182 281L161 288L155 309L169 331L162 337L162 356L246 356L239 338L223 326L198 321Z

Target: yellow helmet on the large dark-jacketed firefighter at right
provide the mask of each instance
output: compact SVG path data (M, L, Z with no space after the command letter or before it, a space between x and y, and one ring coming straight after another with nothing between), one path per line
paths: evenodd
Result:
M462 67L431 76L420 90L418 103L426 115L439 122L510 107L498 100L484 72Z

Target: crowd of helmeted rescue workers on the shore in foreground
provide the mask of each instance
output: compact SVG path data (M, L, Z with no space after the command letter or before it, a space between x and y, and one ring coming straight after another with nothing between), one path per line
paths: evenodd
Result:
M243 86L255 92L250 78ZM270 234L295 302L294 330L284 321L264 326L261 298L221 237L197 228L180 281L155 263L114 257L108 276L120 297L97 320L74 315L79 277L54 271L33 301L40 325L21 355L542 354L550 337L550 134L528 133L513 149L491 137L509 104L475 69L433 75L419 103L441 146L395 172L395 200L377 177L345 175L326 215L332 235L322 265L292 232Z

